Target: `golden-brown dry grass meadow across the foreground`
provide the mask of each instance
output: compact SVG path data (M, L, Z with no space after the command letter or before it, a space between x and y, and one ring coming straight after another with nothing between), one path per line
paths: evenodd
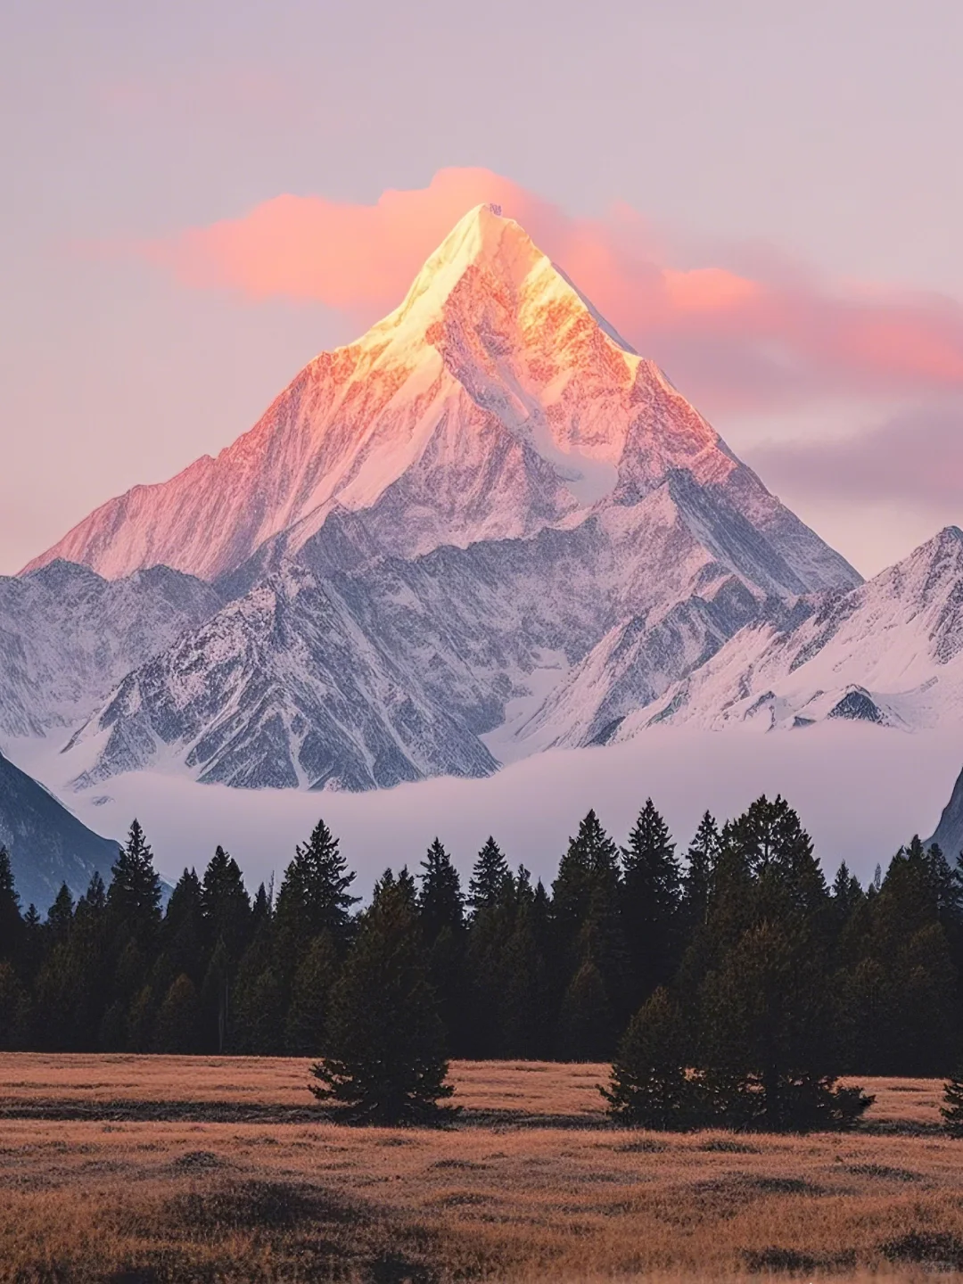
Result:
M851 1135L607 1126L602 1066L456 1063L446 1130L318 1120L307 1062L0 1055L0 1280L963 1280L940 1084Z

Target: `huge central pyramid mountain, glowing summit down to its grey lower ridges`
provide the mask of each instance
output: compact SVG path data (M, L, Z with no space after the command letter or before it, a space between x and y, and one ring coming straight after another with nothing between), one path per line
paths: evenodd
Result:
M55 559L114 584L163 562L218 602L100 692L80 786L488 774L514 701L553 684L530 749L605 738L737 630L860 583L487 205L248 434L24 578Z

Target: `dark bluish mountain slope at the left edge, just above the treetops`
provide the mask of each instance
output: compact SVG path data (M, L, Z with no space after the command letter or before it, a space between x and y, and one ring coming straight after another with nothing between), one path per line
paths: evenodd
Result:
M42 785L0 754L0 847L6 847L21 904L45 913L62 883L74 896L99 872L110 881L117 844L72 815Z

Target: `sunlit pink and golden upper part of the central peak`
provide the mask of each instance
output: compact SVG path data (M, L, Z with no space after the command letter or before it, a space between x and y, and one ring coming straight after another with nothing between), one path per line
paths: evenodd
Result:
M401 307L311 362L216 460L112 499L27 569L216 579L270 542L290 556L342 511L415 556L573 524L670 471L723 490L806 588L858 580L517 223L480 205Z

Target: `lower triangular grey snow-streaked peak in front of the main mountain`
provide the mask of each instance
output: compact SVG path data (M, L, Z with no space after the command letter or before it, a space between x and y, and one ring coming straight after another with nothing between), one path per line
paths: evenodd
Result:
M309 570L288 566L119 684L67 746L98 746L78 783L155 764L243 787L362 790L496 764L457 719L406 686Z

